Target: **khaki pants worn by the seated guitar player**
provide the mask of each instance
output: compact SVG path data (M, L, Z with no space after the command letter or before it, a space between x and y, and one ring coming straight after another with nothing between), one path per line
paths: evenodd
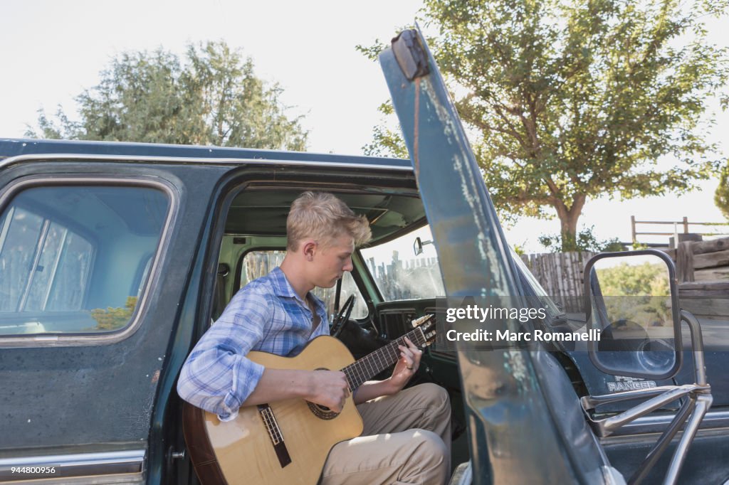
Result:
M445 484L451 472L451 403L443 387L410 387L357 410L364 432L332 448L321 485Z

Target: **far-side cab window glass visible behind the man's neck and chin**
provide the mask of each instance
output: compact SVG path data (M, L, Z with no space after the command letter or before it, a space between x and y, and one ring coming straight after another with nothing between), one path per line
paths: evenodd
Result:
M284 261L284 256L286 256L286 251L249 251L246 253L246 256L243 256L243 268L241 269L241 288L249 281L268 275L271 269L279 266L281 261ZM327 306L327 316L329 317L330 323L332 322L334 313L335 290L336 287L314 288L312 291ZM355 295L355 302L349 318L359 320L367 317L369 312L367 311L367 304L364 302L364 298L362 298L362 293L359 293L359 288L354 283L354 278L351 273L346 271L342 277L342 293L339 299L340 307L351 294Z

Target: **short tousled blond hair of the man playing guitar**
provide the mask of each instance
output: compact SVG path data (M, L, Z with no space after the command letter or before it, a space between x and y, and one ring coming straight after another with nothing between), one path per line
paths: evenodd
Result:
M367 218L356 216L332 194L304 192L292 202L286 218L286 247L290 251L296 251L306 237L327 246L343 234L354 239L355 247L365 244L372 237Z

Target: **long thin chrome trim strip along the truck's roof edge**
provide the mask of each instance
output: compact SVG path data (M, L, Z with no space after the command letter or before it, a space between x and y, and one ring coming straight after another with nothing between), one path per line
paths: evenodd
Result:
M316 155L316 154L314 154ZM330 157L330 154L321 154L322 156ZM337 155L338 157L346 157L346 155ZM353 155L353 157L361 157L360 155ZM4 160L0 160L0 170L13 165L17 162L26 162L31 160L44 160L44 159L61 159L61 160L79 160L79 161L93 161L93 160L112 160L117 162L170 162L170 163L182 163L187 165L205 165L205 164L218 164L218 165L241 165L254 164L254 165L294 165L294 166L315 166L315 167L335 167L335 168L364 168L364 169L377 169L377 170L398 170L403 172L412 172L413 167L397 165L366 165L363 163L340 163L340 162L306 162L304 160L274 160L274 159L259 159L259 158L203 158L203 157L149 157L144 155L130 156L130 155L92 155L92 154L31 154L31 155L17 155L15 157L9 157Z

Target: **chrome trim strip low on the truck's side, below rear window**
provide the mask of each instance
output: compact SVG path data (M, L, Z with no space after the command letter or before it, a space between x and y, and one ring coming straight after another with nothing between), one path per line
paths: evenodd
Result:
M33 483L128 483L141 481L147 450L122 452L56 454L33 457L1 458L0 481ZM51 474L19 475L12 468L54 468Z

